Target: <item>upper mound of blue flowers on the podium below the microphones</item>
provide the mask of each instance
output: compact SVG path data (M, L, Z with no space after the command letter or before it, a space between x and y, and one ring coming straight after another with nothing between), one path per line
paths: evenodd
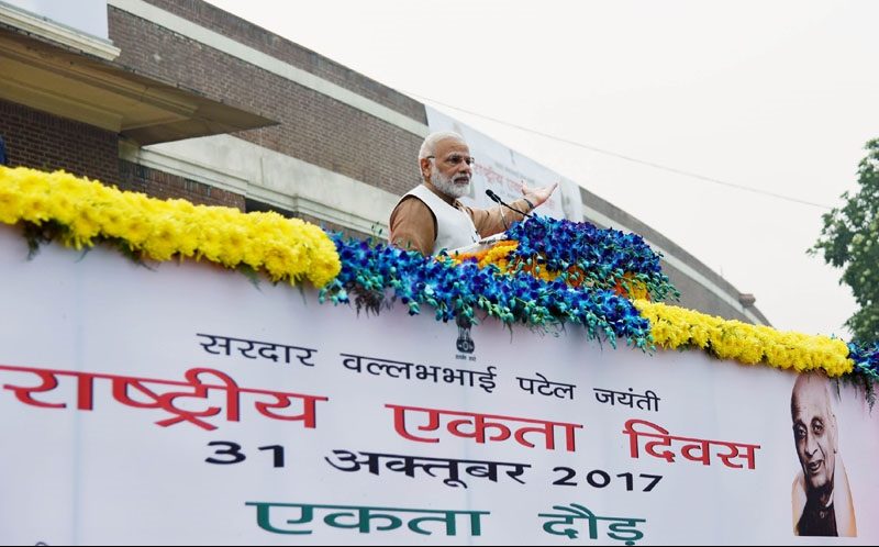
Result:
M509 257L513 267L537 261L575 287L646 290L654 301L680 297L663 274L660 255L637 234L535 215L514 223L507 236L519 242Z

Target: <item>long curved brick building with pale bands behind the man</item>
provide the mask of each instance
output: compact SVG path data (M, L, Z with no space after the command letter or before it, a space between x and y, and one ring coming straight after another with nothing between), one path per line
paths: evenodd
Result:
M0 135L11 165L361 236L387 234L418 183L424 104L204 1L87 0L97 29L66 21L62 0L41 14L7 2ZM768 323L753 297L661 234L580 197L586 220L663 252L682 305Z

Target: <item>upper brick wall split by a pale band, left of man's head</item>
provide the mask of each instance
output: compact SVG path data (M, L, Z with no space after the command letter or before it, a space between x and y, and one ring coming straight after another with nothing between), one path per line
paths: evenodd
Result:
M425 122L418 102L210 4L151 3ZM112 7L109 25L119 65L281 122L235 136L394 193L419 182L421 137Z

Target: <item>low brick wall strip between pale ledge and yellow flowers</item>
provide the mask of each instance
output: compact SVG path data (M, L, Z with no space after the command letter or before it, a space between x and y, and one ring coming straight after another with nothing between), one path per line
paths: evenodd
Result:
M120 190L142 192L153 198L181 198L200 205L234 206L244 211L244 197L219 188L124 159L118 159Z

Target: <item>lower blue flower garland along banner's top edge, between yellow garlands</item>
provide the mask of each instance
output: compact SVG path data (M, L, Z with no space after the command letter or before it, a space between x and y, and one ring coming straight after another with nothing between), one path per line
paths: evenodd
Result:
M383 243L341 235L334 241L342 271L321 290L321 301L346 303L353 293L358 309L378 311L386 290L391 290L412 315L426 304L438 321L477 323L475 312L482 310L508 325L580 324L588 337L604 337L613 346L616 337L642 349L650 346L649 323L631 301L612 291L574 290L561 281L504 274L494 266L479 268L474 261L456 265L446 255L424 257Z

